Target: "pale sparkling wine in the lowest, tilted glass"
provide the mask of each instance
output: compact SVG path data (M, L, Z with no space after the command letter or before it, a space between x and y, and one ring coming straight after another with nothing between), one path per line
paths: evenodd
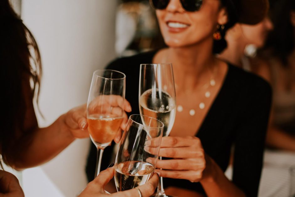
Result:
M124 161L115 167L117 191L133 189L151 178L154 166L145 161Z

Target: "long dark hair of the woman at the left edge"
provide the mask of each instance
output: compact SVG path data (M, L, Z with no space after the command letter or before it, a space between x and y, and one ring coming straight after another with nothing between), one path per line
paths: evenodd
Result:
M7 163L9 146L24 132L25 95L38 103L42 67L32 33L8 0L0 1L0 27L1 104L4 109L1 110L0 153ZM31 85L30 92L24 93L24 83Z

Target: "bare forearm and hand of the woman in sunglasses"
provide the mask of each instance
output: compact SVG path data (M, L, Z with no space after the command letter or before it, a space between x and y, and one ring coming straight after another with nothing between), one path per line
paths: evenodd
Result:
M162 177L200 182L207 196L245 196L229 181L220 167L210 158L197 137L163 137L159 156L174 158L159 160L156 171Z

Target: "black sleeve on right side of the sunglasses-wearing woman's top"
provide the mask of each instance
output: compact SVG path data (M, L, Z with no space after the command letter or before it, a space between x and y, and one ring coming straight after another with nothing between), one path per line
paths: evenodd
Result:
M262 79L244 95L246 103L237 127L233 161L233 183L246 196L257 196L265 137L271 107L271 87Z

